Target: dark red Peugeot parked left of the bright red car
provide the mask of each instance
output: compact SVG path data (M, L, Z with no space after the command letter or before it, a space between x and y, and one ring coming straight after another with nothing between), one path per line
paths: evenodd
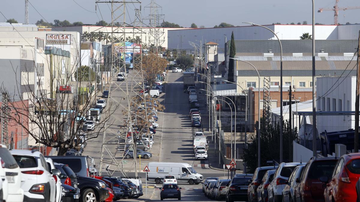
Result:
M313 157L303 168L297 186L294 188L295 201L324 201L324 190L327 183L321 182L320 178L331 178L337 159Z

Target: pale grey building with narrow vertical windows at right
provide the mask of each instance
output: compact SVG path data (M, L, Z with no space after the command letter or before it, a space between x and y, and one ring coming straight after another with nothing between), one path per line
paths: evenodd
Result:
M356 77L319 77L316 84L317 111L355 111ZM319 133L355 128L355 116L317 116L316 120Z

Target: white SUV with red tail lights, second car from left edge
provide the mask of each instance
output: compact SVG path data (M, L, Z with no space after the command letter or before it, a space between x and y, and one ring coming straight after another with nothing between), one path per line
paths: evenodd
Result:
M60 171L49 170L44 156L37 150L11 150L10 153L20 166L21 178L24 179L21 184L24 201L49 199L50 202L56 202L56 182L53 175L60 175Z

